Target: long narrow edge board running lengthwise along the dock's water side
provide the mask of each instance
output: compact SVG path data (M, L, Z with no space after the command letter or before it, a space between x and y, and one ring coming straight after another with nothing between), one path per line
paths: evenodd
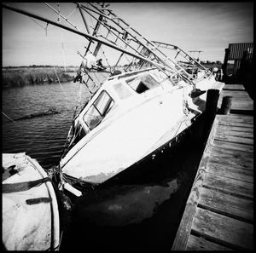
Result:
M218 121L214 121L212 124L212 129L210 135L208 137L207 146L201 158L201 163L199 164L199 168L195 175L195 181L191 188L189 198L187 200L185 210L183 213L182 220L177 229L177 234L172 244L172 250L185 250L188 240L189 234L192 226L193 217L195 214L196 205L199 199L201 186L204 181L205 172L207 170L207 162L211 153L212 141L215 130L217 128Z

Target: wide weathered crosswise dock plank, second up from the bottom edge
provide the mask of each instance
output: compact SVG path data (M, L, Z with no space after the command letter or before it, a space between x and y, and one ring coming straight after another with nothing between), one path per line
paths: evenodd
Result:
M208 239L230 244L237 249L253 250L253 225L197 208L192 229Z

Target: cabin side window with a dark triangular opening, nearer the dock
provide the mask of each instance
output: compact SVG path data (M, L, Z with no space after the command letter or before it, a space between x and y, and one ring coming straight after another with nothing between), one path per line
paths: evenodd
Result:
M148 74L137 78L131 78L130 80L127 80L126 83L139 94L148 89L154 89L160 85L160 83Z

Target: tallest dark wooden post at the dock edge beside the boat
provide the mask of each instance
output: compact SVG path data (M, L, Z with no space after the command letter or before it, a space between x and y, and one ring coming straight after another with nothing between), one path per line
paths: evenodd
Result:
M207 91L207 105L206 105L206 114L205 114L205 122L203 126L202 137L205 139L209 130L211 129L212 122L215 118L218 106L218 89L208 89Z

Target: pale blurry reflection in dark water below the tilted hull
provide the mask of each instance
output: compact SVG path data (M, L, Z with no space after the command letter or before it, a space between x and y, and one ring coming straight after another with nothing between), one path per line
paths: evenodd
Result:
M177 192L177 179L163 185L124 185L108 187L97 193L78 198L79 221L104 227L123 227L154 216L160 204Z

